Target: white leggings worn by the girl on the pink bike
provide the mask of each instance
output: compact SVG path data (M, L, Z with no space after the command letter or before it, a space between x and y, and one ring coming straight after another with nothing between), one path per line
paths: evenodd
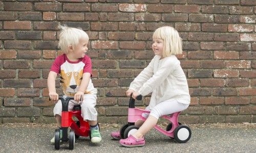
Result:
M189 104L179 103L176 99L172 101L162 101L151 110L150 114L143 113L142 116L147 118L148 115L151 115L159 119L159 117L162 115L168 115L183 111L187 109L188 106ZM150 111L150 108L146 107L145 110Z

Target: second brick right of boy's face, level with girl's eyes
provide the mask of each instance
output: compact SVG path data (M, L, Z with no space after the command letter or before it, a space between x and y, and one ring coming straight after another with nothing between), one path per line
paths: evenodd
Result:
M120 41L120 49L144 49L145 43L142 41Z

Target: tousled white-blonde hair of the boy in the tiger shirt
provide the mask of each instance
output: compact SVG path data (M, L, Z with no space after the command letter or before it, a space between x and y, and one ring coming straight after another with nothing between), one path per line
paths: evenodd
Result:
M75 48L81 38L89 40L87 33L81 29L71 28L67 25L60 25L59 29L59 47L65 54L69 52L69 46L72 45Z

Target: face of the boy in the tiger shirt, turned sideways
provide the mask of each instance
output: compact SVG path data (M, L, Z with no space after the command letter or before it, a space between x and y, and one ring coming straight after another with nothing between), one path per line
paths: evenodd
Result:
M81 38L79 40L79 43L77 44L77 46L75 46L74 52L73 52L75 58L79 59L86 56L86 53L88 50L87 44L88 44L88 39Z

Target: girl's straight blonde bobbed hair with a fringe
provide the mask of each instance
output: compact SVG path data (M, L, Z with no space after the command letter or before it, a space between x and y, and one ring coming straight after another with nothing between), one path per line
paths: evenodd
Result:
M163 39L163 57L169 57L171 55L182 54L182 39L179 36L177 30L173 27L161 27L158 28L154 34L153 39Z

